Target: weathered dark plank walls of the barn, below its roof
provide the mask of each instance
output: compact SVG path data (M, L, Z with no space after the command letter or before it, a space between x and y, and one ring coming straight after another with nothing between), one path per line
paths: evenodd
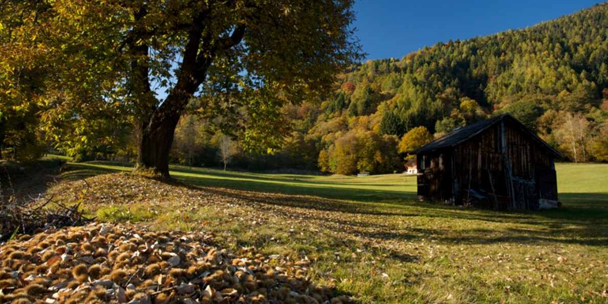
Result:
M454 146L420 155L424 160L418 167L424 178L419 176L423 182L418 187L419 195L493 209L537 209L541 193L547 193L541 190L537 174L542 168L554 168L554 153L533 138L534 134L512 122L499 120ZM489 197L490 190L494 198ZM472 198L473 191L482 199L478 195Z

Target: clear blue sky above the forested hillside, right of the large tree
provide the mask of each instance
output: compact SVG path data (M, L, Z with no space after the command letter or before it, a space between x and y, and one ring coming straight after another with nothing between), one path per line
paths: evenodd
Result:
M356 36L367 59L401 58L438 41L466 40L592 7L598 0L356 0Z

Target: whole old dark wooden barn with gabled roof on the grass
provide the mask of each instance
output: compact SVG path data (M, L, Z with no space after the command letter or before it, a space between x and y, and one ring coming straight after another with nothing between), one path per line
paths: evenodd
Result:
M563 157L510 114L455 129L412 151L418 198L486 209L558 207Z

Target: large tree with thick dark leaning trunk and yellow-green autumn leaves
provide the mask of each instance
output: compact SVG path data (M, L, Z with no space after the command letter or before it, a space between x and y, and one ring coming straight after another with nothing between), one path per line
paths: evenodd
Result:
M15 60L0 73L50 71L44 94L26 102L46 109L44 130L58 142L86 145L93 121L128 121L136 168L168 176L174 130L193 97L196 112L244 147L280 147L280 108L319 100L340 66L359 59L353 2L3 1L3 55Z

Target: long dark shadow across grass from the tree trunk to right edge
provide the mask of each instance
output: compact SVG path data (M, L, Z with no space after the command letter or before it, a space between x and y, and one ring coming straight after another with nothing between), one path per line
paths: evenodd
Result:
M188 172L192 173L192 171ZM306 181L303 184L285 185L275 183L273 185L262 181L265 176L255 177L254 180L227 181L218 177L220 174L224 173L214 171L212 177L206 176L204 178L195 176L178 177L178 174L175 174L174 176L178 177L179 181L164 179L163 182L221 196L243 199L257 204L288 207L287 209L275 210L275 212L281 213L280 216L284 218L290 218L289 207L294 207L323 212L342 212L351 215L396 217L393 221L399 221L399 217L406 220L412 216L425 216L437 218L440 221L457 222L466 220L504 225L494 226L501 227L502 230L470 227L469 229L458 228L460 230L455 233L449 229L425 227L424 229L411 228L407 232L395 233L390 226L382 226L382 221L379 221L378 218L375 218L373 222L366 222L354 219L334 219L331 215L323 215L322 221L327 221L328 229L336 229L336 226L330 227L330 223L333 222L334 225L337 225L339 221L343 221L348 226L348 230L345 230L345 232L371 240L399 241L426 235L438 235L438 241L452 244L516 242L601 246L608 243L608 231L601 228L608 226L608 193L560 193L559 196L564 202L564 207L557 210L494 212L415 202L412 199L415 196L413 192L358 189L356 185L351 185L353 188L323 188L323 185L313 181ZM228 175L230 174L227 173ZM276 178L276 180L285 181L282 178ZM201 184L204 184L204 186ZM268 192L274 193L266 195L265 193ZM302 215L300 214L300 216ZM471 224L474 225L475 223ZM480 223L480 226L483 226L483 224ZM370 229L375 229L375 231L370 232Z

